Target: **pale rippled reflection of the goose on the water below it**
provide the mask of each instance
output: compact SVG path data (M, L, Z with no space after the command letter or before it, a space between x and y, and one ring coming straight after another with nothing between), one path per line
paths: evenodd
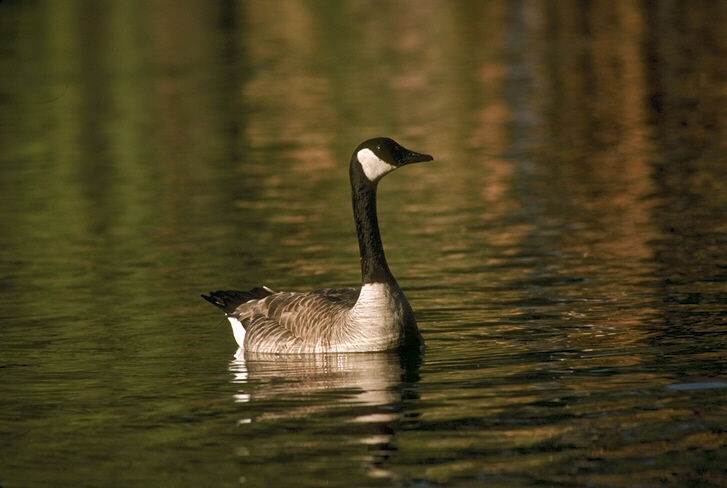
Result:
M240 386L235 402L244 404L245 416L238 424L270 423L271 431L279 422L315 418L302 429L315 424L310 436L305 432L301 445L328 444L320 436L319 419L335 423L336 438L346 444L366 445L364 464L372 477L393 477L385 468L389 455L396 451L393 440L404 416L404 400L418 398L419 353L326 353L259 354L238 349L229 369L232 382ZM407 415L411 417L411 415ZM274 434L273 434L274 435ZM258 436L259 437L259 436ZM252 440L259 448L277 443L268 436ZM322 436L322 437L325 437ZM296 442L286 439L287 446ZM278 448L278 447L276 447ZM326 445L330 448L330 445ZM248 445L245 452L253 452Z

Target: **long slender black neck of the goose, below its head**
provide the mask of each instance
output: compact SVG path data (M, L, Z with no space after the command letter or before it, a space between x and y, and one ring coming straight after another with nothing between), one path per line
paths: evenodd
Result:
M365 177L357 176L362 175L352 175L351 178L351 195L361 251L362 281L364 284L396 283L386 264L384 246L381 243L379 220L376 216L376 185L365 180Z

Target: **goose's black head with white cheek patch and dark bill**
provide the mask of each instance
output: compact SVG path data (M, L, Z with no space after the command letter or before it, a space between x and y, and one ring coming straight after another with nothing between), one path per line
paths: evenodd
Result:
M428 154L410 151L388 137L376 137L362 142L353 152L351 177L360 174L365 181L376 185L384 175L397 168L433 159Z

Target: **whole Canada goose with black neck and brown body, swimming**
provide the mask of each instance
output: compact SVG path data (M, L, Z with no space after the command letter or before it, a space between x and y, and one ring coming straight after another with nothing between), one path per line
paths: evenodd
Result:
M369 139L353 152L349 177L361 253L360 289L298 293L263 286L202 295L225 312L240 348L273 354L423 348L414 312L386 263L376 189L391 171L433 159L386 137Z

